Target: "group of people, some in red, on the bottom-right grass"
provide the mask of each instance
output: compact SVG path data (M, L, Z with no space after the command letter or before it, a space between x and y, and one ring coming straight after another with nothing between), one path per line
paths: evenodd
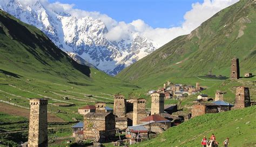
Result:
M223 142L224 147L227 147L229 142L229 138L226 138L225 141ZM201 145L203 145L203 147L217 147L219 143L216 141L216 137L214 136L214 134L212 134L212 136L208 139L204 136L204 138L201 141Z

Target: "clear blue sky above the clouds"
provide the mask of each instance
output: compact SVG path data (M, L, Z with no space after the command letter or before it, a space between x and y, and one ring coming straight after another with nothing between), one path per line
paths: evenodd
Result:
M153 28L181 26L184 14L192 9L192 3L203 0L49 0L75 4L75 9L98 11L117 21L131 23L142 19Z

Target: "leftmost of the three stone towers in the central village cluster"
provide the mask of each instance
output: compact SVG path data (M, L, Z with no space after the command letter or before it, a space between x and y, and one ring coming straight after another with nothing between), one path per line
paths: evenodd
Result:
M114 115L117 117L125 117L126 107L124 95L114 95Z

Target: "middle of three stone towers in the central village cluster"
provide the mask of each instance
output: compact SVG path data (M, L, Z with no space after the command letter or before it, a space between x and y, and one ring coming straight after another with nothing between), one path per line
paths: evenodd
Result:
M133 100L133 115L132 115L132 126L139 124L140 120L146 117L146 100L145 99L134 99Z

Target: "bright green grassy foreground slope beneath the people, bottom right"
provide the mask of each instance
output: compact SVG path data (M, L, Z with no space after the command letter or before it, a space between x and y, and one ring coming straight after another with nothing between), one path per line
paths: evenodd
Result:
M256 145L256 106L218 114L206 114L172 127L137 146L200 146L203 136L215 134L223 143L230 137L230 146ZM220 146L221 146L220 145Z

